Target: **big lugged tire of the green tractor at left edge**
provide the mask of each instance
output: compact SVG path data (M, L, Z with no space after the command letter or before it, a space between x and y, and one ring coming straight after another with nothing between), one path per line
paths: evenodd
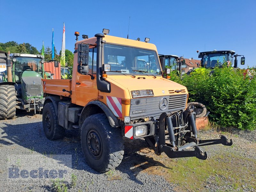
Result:
M16 115L16 92L13 85L0 85L0 119Z

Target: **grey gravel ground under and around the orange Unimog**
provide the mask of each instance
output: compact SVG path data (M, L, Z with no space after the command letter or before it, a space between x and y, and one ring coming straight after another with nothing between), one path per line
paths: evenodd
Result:
M1 191L54 191L54 184L36 185L36 184L8 184L8 168L10 168L10 156L21 156L21 160L33 157L35 162L42 162L54 155L72 155L71 165L62 164L60 161L51 163L52 169L62 166L68 170L68 173L76 176L77 179L70 179L73 182L67 184L68 191L232 191L234 186L221 182L216 183L216 178L222 175L211 175L203 183L198 184L195 189L183 188L176 182L170 182L163 169L170 169L167 164L174 162L166 155L156 156L152 150L145 148L144 140L125 140L125 152L122 163L114 171L105 174L99 174L91 169L85 162L81 150L80 136L77 130L66 131L64 139L50 141L44 136L42 127L42 115L33 116L28 113L18 113L16 119L0 121L0 188ZM202 139L213 139L218 137L219 132L201 131L199 136ZM236 151L237 155L256 162L256 131L238 131L232 133L223 133L228 138L234 140L235 145L231 147L213 145L206 146L204 149L208 151L209 156L216 154L227 154L223 159ZM45 157L43 154L50 155ZM36 158L36 159L35 159ZM230 158L232 158L230 156ZM229 159L230 159L229 158ZM188 158L186 158L188 159ZM224 161L219 159L217 161ZM181 159L179 159L181 160ZM175 160L176 161L176 160ZM208 161L208 160L206 160ZM235 162L234 164L236 164ZM239 168L251 168L252 164L246 161L230 171L240 171ZM13 164L12 164L13 165ZM17 165L19 167L19 163ZM153 170L153 171L152 171ZM159 172L158 172L159 171ZM176 174L175 174L176 175ZM179 177L175 176L177 180ZM255 178L254 174L254 178ZM243 178L241 178L243 179ZM39 179L38 179L39 180ZM236 190L255 191L251 186L255 183L251 181L245 182L242 186L238 186ZM56 184L56 182L55 182ZM58 183L57 183L58 184ZM256 185L256 184L255 184Z

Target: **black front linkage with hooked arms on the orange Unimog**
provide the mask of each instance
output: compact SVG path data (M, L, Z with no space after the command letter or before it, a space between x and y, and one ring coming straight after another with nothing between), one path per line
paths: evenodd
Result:
M174 146L175 137L173 132L173 126L171 117L172 113L162 113L159 117L159 129L158 129L158 139L156 144L158 147L155 148L155 152L157 155L160 155L164 152L170 158L179 158L179 157L193 157L195 156L198 159L205 160L207 159L207 153L203 152L198 146L205 146L205 145L215 145L215 144L222 144L226 146L231 146L233 144L233 140L231 139L228 142L228 139L224 135L220 135L220 139L213 139L213 140L200 140L197 138L197 130L196 130L196 123L193 114L193 110L187 109L184 111L183 118L186 116L186 119L189 121L191 131L194 136L191 137L184 137L185 145L182 146ZM164 122L166 121L168 132L169 132L169 139L170 143L165 143L165 129L164 129ZM184 121L185 122L185 121ZM189 150L194 148L194 150Z

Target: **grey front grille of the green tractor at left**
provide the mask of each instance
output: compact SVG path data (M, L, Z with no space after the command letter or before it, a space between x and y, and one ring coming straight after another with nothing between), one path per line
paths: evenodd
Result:
M41 84L41 80L41 77L22 77L21 81L23 92L27 92L32 96L42 93L43 86Z

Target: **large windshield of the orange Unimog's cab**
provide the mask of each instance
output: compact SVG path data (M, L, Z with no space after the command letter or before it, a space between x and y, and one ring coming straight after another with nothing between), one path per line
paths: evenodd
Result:
M161 75L161 68L155 51L104 44L104 64L110 64L107 74L121 73Z

